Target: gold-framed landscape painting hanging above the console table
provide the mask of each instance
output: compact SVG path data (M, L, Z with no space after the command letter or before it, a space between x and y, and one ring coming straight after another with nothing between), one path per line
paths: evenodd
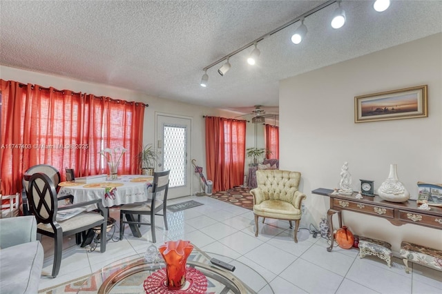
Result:
M428 117L427 85L354 97L354 122Z

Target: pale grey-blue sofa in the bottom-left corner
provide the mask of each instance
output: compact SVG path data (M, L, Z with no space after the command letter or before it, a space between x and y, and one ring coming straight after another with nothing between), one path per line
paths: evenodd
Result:
M37 293L44 250L33 215L0 219L0 293Z

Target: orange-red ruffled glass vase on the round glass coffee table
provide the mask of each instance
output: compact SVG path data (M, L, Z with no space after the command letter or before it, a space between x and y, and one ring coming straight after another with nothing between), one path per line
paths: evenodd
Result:
M167 288L179 290L186 284L186 261L193 245L190 241L169 241L158 247L166 262Z

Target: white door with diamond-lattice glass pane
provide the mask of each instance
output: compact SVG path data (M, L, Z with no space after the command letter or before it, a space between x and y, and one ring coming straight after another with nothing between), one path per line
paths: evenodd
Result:
M191 195L191 119L157 115L158 170L171 170L168 198Z

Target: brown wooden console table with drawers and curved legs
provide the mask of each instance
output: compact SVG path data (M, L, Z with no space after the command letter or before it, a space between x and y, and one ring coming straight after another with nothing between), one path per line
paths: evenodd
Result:
M312 194L330 197L330 209L327 211L327 219L332 245L327 248L329 252L332 251L334 245L332 216L338 213L339 227L341 227L343 224L342 210L382 217L395 226L417 224L442 230L442 207L430 206L430 210L421 210L418 208L416 201L412 200L396 203L387 202L377 195L374 197L363 196L363 199L358 199L355 197L356 193L353 193L353 195L331 195L332 192L333 190L326 188L311 191Z

